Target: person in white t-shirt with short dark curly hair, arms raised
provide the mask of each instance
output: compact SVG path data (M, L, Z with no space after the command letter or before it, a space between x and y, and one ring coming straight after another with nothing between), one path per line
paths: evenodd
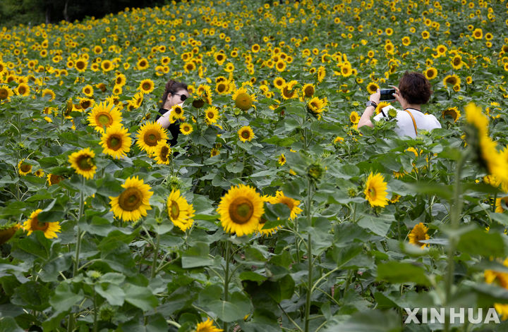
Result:
M404 73L399 81L399 87L394 87L394 97L401 105L402 111L397 110L397 128L395 133L400 136L416 137L418 130L433 130L441 128L441 124L437 118L430 114L424 114L421 111L421 105L426 104L430 99L430 82L421 73ZM370 118L380 102L380 90L370 95L367 107L358 122L358 128L363 125L374 127ZM384 113L384 114L383 114ZM375 121L380 121L386 115L385 109L374 116Z

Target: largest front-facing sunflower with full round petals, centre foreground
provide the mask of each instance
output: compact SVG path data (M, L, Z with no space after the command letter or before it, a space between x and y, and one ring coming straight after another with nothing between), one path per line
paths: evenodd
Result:
M249 185L231 187L219 203L222 228L237 236L250 235L258 229L261 216L265 213L263 199Z

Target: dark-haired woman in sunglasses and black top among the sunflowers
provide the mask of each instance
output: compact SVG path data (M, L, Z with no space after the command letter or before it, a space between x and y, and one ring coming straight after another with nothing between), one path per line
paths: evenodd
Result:
M161 108L159 109L160 115L157 116L155 120L157 123L162 125L162 128L167 128L171 135L173 135L173 138L169 141L171 147L176 145L176 139L178 138L180 132L179 123L171 123L169 121L171 107L183 104L188 97L189 93L185 83L176 82L175 80L169 80L166 83L166 89L164 90L164 94L162 94Z

